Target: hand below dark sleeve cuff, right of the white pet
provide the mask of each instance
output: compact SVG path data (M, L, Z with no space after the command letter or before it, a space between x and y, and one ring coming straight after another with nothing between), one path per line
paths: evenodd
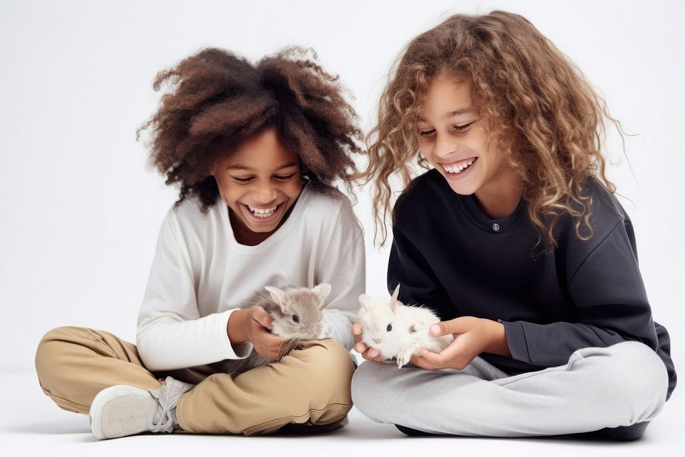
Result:
M452 334L454 341L440 354L421 349L421 356L410 360L416 367L427 370L443 368L464 369L482 352L511 357L504 325L489 319L458 317L431 325L433 336Z

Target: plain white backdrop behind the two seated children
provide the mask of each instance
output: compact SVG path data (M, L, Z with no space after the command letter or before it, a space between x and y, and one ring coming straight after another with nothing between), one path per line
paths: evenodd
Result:
M630 213L657 321L685 358L685 81L679 1L0 1L0 370L32 370L59 325L135 341L158 228L177 194L148 171L135 130L155 110L155 73L206 46L252 59L312 46L373 125L391 62L453 12L519 12L584 70L627 132L610 177ZM371 246L367 290L384 292L386 249Z

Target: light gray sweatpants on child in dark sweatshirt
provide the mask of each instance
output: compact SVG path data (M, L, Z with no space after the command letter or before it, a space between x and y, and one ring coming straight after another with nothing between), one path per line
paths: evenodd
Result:
M376 422L464 436L545 436L651 421L668 377L636 342L575 351L561 367L509 376L480 357L463 370L365 361L352 400Z

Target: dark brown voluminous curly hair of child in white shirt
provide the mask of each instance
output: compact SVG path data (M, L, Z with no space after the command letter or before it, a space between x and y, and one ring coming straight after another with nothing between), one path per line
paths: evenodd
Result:
M149 131L150 165L166 175L167 185L180 186L175 206L197 195L208 212L219 195L210 175L216 161L273 126L297 152L305 180L340 180L351 193L351 153L360 153L362 134L338 77L316 59L313 49L289 47L251 64L208 48L157 74L155 91L165 83L169 91L136 138Z

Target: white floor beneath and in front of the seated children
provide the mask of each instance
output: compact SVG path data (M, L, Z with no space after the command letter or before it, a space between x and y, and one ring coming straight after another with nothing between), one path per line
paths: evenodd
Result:
M141 435L97 441L88 417L60 410L33 373L0 373L0 456L685 456L685 395L672 399L640 441L411 438L358 410L347 427L319 436Z

